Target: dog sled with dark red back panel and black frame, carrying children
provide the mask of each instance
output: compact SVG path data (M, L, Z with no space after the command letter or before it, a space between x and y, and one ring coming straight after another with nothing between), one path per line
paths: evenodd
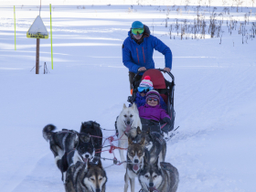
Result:
M146 131L148 127L150 127L151 132L168 133L174 129L174 125L175 125L175 116L176 116L176 113L174 110L175 77L171 72L166 72L164 69L147 69L144 71L143 76L139 75L139 73L141 72L142 71L137 72L137 74L134 76L133 84L132 84L133 94L132 96L128 97L128 101L131 104L133 104L133 101L135 100L141 80L144 80L145 76L150 76L150 79L154 85L154 90L160 93L161 97L163 98L163 100L167 105L167 113L171 118L171 123L167 124L163 122L157 122L155 120L146 120L144 118L141 118L141 123L143 125L142 130ZM171 77L172 81L165 80L163 72L168 74Z

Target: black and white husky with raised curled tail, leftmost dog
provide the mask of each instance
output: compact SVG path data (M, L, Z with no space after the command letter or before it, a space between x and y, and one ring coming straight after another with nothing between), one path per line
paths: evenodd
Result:
M55 130L56 126L48 124L43 129L43 137L47 142L49 141L55 163L61 171L62 181L65 181L69 165L76 164L77 161L86 161L88 154L93 154L90 147L85 147L85 145L90 146L90 135L67 129L53 132ZM93 145L91 145L91 148L93 148Z

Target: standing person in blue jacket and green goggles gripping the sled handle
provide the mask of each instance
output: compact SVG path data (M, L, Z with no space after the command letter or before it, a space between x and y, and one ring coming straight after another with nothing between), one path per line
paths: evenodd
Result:
M138 71L155 69L154 49L165 55L165 71L170 72L173 59L171 49L157 37L150 35L149 27L140 21L134 21L128 37L123 41L123 65L129 69L131 93L135 74Z

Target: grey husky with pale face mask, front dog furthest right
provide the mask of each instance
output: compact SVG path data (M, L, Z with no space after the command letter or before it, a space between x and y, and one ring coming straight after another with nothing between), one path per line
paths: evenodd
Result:
M144 158L144 167L139 174L139 181L143 192L176 192L178 186L178 172L175 166L161 162L158 159L154 164Z

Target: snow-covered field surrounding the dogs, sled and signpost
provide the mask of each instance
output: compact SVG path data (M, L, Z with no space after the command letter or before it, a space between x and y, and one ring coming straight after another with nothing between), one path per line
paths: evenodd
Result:
M141 20L151 32L154 29L154 36L173 52L175 126L179 128L167 143L166 162L179 171L177 191L255 192L256 39L249 37L242 44L238 31L248 14L246 27L251 34L256 8L244 5L237 12L237 7L227 6L230 15L224 15L219 44L220 37L210 38L208 33L204 39L191 39L187 34L189 39L181 40L174 30L176 39L170 39L169 26L176 24L176 18L191 22L197 18L196 6L185 11L185 1L183 6L170 8L168 27L167 1L160 6L133 7L127 0L123 1L127 5L52 3L54 69L50 67L50 38L41 39L42 67L36 75L35 69L30 71L36 63L36 39L27 38L26 33L38 15L38 6L28 5L29 1L27 5L10 2L16 5L16 50L13 5L0 2L1 192L64 191L59 169L42 137L46 124L79 131L81 122L92 120L102 128L114 128L123 103L128 104L122 44L134 20ZM178 7L183 11L176 11ZM219 3L216 7L219 16L225 6ZM199 13L208 21L213 8L201 6ZM231 35L226 25L230 16L238 21ZM49 32L48 5L42 6L41 17ZM154 59L156 68L165 67L162 54L155 51ZM45 75L44 62L50 71ZM104 136L112 134L103 131ZM118 151L115 155L119 158ZM112 157L107 152L101 156ZM106 172L106 191L123 191L123 165ZM139 189L136 181L135 191Z

